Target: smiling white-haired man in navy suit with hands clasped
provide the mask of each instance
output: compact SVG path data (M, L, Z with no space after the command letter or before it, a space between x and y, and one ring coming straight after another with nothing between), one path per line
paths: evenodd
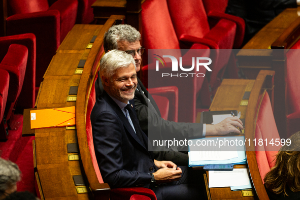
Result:
M157 161L135 112L138 85L136 62L124 51L112 50L100 62L104 91L91 112L95 155L104 182L111 188L146 187L157 199L199 199L201 177L171 161ZM150 145L151 146L151 145ZM191 178L192 177L192 178ZM193 184L193 181L196 184Z

